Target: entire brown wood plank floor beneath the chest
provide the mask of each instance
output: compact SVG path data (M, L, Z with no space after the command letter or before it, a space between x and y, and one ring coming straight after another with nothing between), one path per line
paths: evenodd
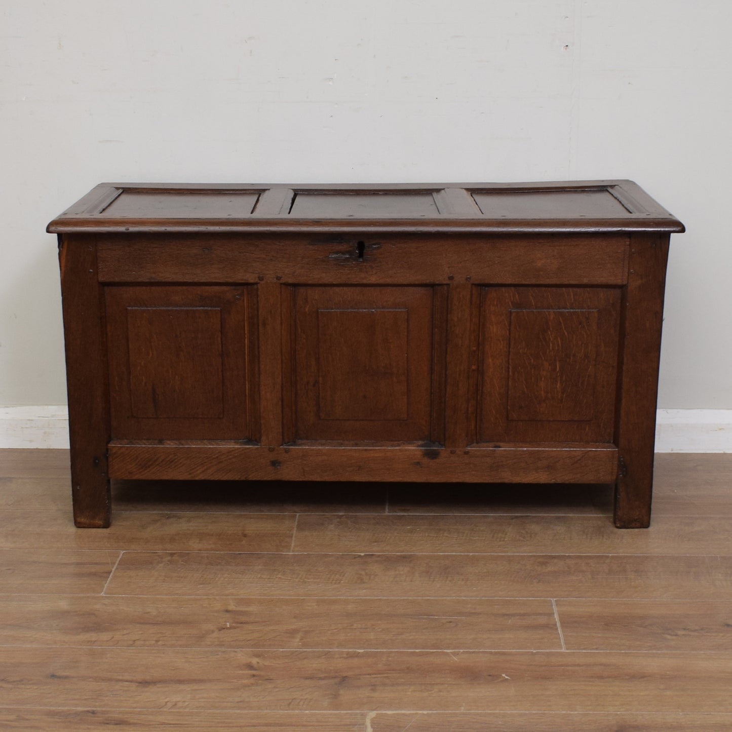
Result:
M732 730L732 455L607 486L119 482L0 451L0 729Z

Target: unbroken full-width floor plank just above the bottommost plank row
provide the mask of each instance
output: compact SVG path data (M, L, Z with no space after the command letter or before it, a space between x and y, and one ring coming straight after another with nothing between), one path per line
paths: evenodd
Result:
M5 648L8 706L732 712L732 654Z

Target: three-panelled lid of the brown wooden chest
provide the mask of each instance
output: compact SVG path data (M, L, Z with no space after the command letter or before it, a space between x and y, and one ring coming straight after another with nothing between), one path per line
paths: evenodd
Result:
M684 231L638 184L102 183L47 231Z

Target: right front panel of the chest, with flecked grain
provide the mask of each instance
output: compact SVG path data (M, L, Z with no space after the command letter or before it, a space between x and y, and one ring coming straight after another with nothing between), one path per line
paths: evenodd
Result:
M613 440L620 291L482 288L479 442Z

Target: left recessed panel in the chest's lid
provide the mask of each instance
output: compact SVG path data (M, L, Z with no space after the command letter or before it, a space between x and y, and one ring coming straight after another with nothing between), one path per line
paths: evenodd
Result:
M122 188L99 212L105 218L208 219L251 214L260 191ZM102 204L103 205L103 204Z

